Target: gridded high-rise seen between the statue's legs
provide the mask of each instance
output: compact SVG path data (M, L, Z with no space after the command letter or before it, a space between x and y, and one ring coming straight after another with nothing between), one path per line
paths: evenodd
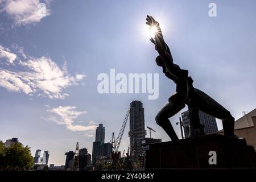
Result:
M189 112L188 112L188 110L181 113L181 116L182 116L182 120L184 122L185 138L189 138ZM200 123L202 125L204 125L205 134L216 133L218 131L216 118L214 118L213 116L206 114L203 111L199 110L199 119L200 119Z

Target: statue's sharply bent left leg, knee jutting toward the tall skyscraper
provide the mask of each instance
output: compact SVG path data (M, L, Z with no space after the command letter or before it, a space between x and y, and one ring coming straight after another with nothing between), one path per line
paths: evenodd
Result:
M169 98L169 103L166 104L155 117L156 123L166 131L171 140L179 139L171 125L171 122L169 121L169 118L185 107L185 104L182 104L181 101L181 98L176 94L171 96Z

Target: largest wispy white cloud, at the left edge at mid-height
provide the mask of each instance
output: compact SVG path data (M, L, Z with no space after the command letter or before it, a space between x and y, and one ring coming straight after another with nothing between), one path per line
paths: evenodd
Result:
M9 49L0 49L9 51ZM20 51L19 51L20 52ZM5 57L10 63L10 57ZM15 58L17 56L15 55ZM22 57L28 57L25 61L16 61L16 64L9 65L12 69L0 68L0 86L13 91L23 92L26 94L37 94L38 96L48 98L60 98L64 99L68 96L67 93L63 93L63 90L68 86L78 85L79 81L84 79L85 75L76 74L75 76L69 75L67 71L67 63L63 68L60 68L49 57L32 57L26 56L22 52ZM11 67L11 66L14 66ZM16 67L20 67L18 71Z

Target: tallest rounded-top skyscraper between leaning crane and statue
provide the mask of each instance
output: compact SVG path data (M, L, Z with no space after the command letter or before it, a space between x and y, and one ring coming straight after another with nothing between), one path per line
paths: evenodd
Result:
M141 141L145 139L144 108L141 101L130 103L130 150L132 155L140 155L142 152Z

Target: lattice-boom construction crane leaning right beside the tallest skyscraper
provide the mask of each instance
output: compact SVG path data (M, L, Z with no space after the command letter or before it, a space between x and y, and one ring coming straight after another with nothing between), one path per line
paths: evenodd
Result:
M114 137L114 133L112 133L112 164L110 167L110 170L112 171L113 169L118 170L121 168L121 164L119 163L118 159L119 156L121 155L121 152L118 152L122 137L123 137L123 132L125 131L125 126L127 123L127 120L129 118L129 114L130 114L130 108L128 109L126 115L125 115L125 119L123 120L123 124L121 126L121 130L119 131L118 137L117 139L115 139Z

